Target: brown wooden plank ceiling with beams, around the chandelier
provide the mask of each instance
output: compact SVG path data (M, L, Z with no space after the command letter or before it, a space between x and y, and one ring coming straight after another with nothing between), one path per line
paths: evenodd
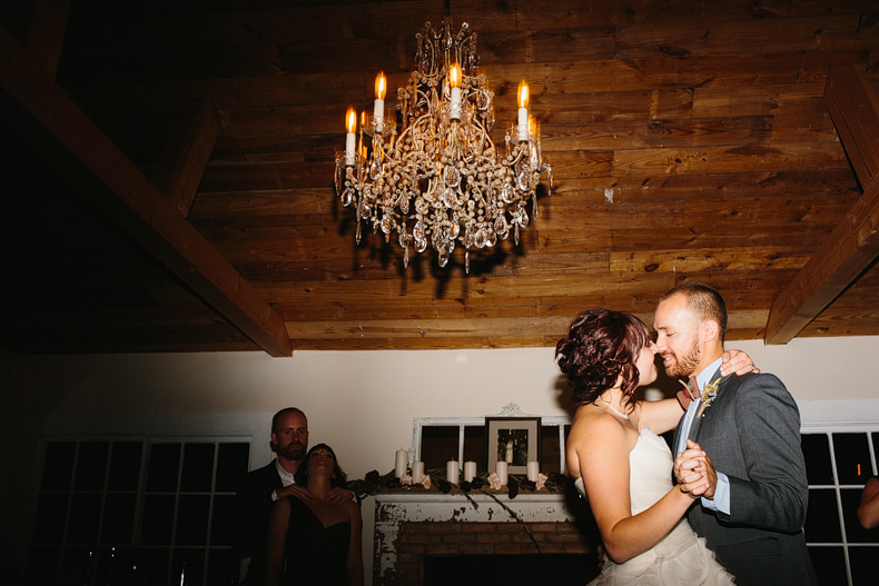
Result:
M395 95L443 2L7 4L10 351L552 346L688 280L732 340L879 335L875 2L448 2L496 138L526 79L555 176L470 275L356 247L333 189L345 110L378 70Z

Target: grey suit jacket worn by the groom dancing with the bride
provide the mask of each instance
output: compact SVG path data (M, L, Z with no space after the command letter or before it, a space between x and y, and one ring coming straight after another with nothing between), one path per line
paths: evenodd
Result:
M817 585L802 533L809 489L800 413L781 380L728 376L689 436L730 480L730 515L698 500L688 518L735 584Z

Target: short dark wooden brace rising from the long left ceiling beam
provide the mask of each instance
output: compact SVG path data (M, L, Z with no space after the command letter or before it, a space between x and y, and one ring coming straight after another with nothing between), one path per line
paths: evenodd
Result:
M219 118L210 98L198 100L181 118L159 158L152 182L188 218L219 136Z

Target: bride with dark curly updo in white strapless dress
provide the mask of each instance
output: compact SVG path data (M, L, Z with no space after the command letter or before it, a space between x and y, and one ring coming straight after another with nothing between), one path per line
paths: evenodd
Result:
M559 367L579 404L567 470L589 499L610 558L590 586L729 585L733 576L684 518L698 496L672 485L671 450L659 437L678 426L682 407L676 399L634 397L638 387L656 379L656 351L643 321L605 309L580 314L556 345ZM728 354L738 360L724 366L745 365L741 374L752 368L743 352ZM697 495L705 488L707 479Z

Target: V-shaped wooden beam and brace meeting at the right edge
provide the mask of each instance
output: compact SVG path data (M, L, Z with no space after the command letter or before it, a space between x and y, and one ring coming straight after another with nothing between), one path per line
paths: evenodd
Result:
M824 102L863 195L772 302L764 341L787 344L879 256L879 99L860 67L833 66Z

